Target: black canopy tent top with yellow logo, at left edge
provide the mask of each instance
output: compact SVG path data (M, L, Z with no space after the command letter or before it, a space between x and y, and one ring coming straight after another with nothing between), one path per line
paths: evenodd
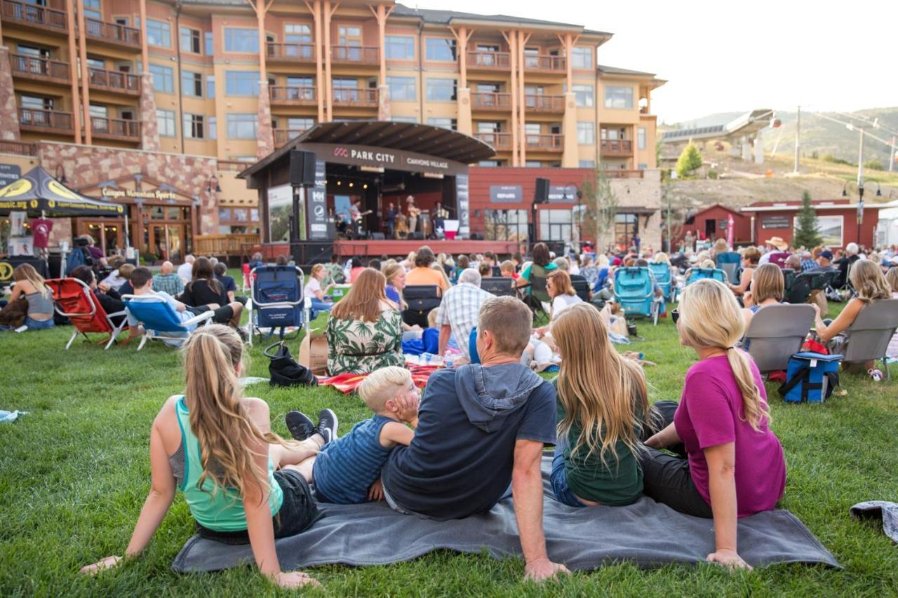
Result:
M125 207L108 204L81 195L51 177L37 166L3 188L0 188L0 214L28 212L47 217L119 216Z

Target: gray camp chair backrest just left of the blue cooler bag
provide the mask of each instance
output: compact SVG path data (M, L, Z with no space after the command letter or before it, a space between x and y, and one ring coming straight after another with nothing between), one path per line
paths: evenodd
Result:
M811 305L765 305L752 316L743 342L749 341L748 354L762 374L785 370L813 325Z

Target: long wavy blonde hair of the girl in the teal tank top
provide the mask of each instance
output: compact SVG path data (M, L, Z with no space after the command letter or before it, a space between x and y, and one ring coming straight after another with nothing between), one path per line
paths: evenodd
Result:
M185 391L190 430L199 441L203 473L219 488L237 488L245 497L259 488L263 500L269 492L268 470L255 461L251 444L282 444L276 434L261 432L242 404L243 391L236 368L242 363L243 345L237 332L210 324L194 332L183 348Z

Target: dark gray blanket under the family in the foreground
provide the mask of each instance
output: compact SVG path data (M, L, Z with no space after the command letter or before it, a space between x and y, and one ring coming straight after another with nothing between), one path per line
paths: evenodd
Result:
M542 522L549 557L588 571L612 561L639 567L696 563L714 551L713 523L677 513L643 497L630 506L573 508L554 500L550 458L542 460ZM385 503L321 505L324 517L306 532L277 541L284 570L326 564L385 565L433 550L521 555L511 498L489 514L436 522L393 512ZM788 511L739 520L739 554L753 567L773 563L823 563L840 567L829 550ZM252 563L250 546L231 546L193 536L172 564L179 573L217 571Z

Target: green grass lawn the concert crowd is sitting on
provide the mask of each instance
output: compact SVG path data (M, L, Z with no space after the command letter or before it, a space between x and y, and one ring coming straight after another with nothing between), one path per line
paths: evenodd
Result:
M104 352L79 340L64 351L70 330L0 336L0 409L31 412L0 427L0 595L279 594L254 568L189 576L170 570L193 533L180 494L143 558L96 578L78 574L79 567L125 549L149 488L150 425L163 401L181 391L182 373L178 352L160 343L140 353L136 343ZM645 339L629 348L658 364L647 368L652 399L678 398L694 354L679 346L670 320L656 328L639 321L638 333ZM248 374L268 376L262 348L251 350ZM290 348L296 355L298 341ZM845 376L843 383L848 396L823 405L784 405L772 385L768 393L788 460L782 507L806 523L844 570L783 565L729 574L704 564L650 571L620 564L537 586L521 583L524 564L516 559L438 552L389 567L309 572L324 585L320 594L333 595L898 594L898 546L876 525L848 514L862 500L898 500L898 379ZM330 407L343 429L367 417L356 397L326 388L257 384L249 393L269 402L281 435L287 435L289 409Z

